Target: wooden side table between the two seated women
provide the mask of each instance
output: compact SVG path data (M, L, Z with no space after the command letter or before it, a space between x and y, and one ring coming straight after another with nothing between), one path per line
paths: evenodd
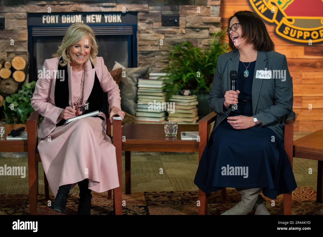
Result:
M211 125L209 127L211 129ZM176 138L167 138L164 124L126 123L122 127L122 151L125 151L126 194L131 193L131 151L199 152L199 142L181 140L181 132L199 131L199 124L178 124Z

